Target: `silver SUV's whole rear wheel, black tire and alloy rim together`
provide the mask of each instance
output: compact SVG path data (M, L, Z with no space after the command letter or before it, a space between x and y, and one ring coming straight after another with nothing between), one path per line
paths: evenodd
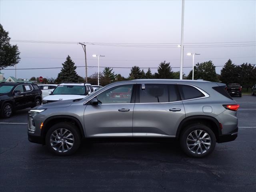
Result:
M200 133L200 131L202 132ZM199 139L196 138L196 132ZM200 137L203 136L204 139L200 140ZM188 156L194 158L201 158L209 155L214 150L215 144L216 138L214 132L212 132L208 126L202 124L192 124L187 126L180 136L180 146L182 150Z

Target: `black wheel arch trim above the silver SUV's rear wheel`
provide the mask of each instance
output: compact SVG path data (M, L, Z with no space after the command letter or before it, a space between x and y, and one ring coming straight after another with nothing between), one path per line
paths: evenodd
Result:
M214 122L214 124L218 127L218 130L217 130L218 135L222 134L220 123L218 122L218 120L216 118L214 118L212 116L196 115L196 116L186 117L182 120L182 122L180 122L178 129L176 131L176 138L179 138L180 132L181 132L184 124L190 120L210 120L210 121Z

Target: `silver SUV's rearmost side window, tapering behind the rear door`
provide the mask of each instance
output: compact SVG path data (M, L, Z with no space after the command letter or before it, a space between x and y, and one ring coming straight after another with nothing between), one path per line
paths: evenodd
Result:
M204 97L204 94L198 89L189 85L178 85L182 100Z

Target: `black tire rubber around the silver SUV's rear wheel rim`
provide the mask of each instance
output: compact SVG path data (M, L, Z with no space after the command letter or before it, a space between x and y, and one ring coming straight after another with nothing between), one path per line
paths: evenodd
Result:
M186 144L187 136L194 130L203 130L210 135L211 146L210 146L209 150L203 154L194 154L194 153L190 152L190 150L187 147L187 144ZM181 146L182 150L188 156L194 157L194 158L202 158L202 157L209 155L214 150L215 144L216 144L216 137L214 135L214 132L208 126L205 126L203 124L193 124L193 125L187 126L184 129L184 131L182 131L181 136L180 136L180 146Z

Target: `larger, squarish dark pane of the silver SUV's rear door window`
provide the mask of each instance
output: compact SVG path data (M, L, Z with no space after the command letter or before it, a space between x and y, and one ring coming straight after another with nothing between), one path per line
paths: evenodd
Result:
M141 84L140 103L169 102L168 84Z

